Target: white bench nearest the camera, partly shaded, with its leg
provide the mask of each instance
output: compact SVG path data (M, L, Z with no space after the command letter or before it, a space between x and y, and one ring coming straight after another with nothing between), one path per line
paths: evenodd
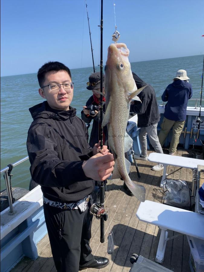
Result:
M146 200L140 203L136 215L141 221L157 225L161 229L156 255L158 263L163 263L164 260L167 229L204 240L202 214Z

